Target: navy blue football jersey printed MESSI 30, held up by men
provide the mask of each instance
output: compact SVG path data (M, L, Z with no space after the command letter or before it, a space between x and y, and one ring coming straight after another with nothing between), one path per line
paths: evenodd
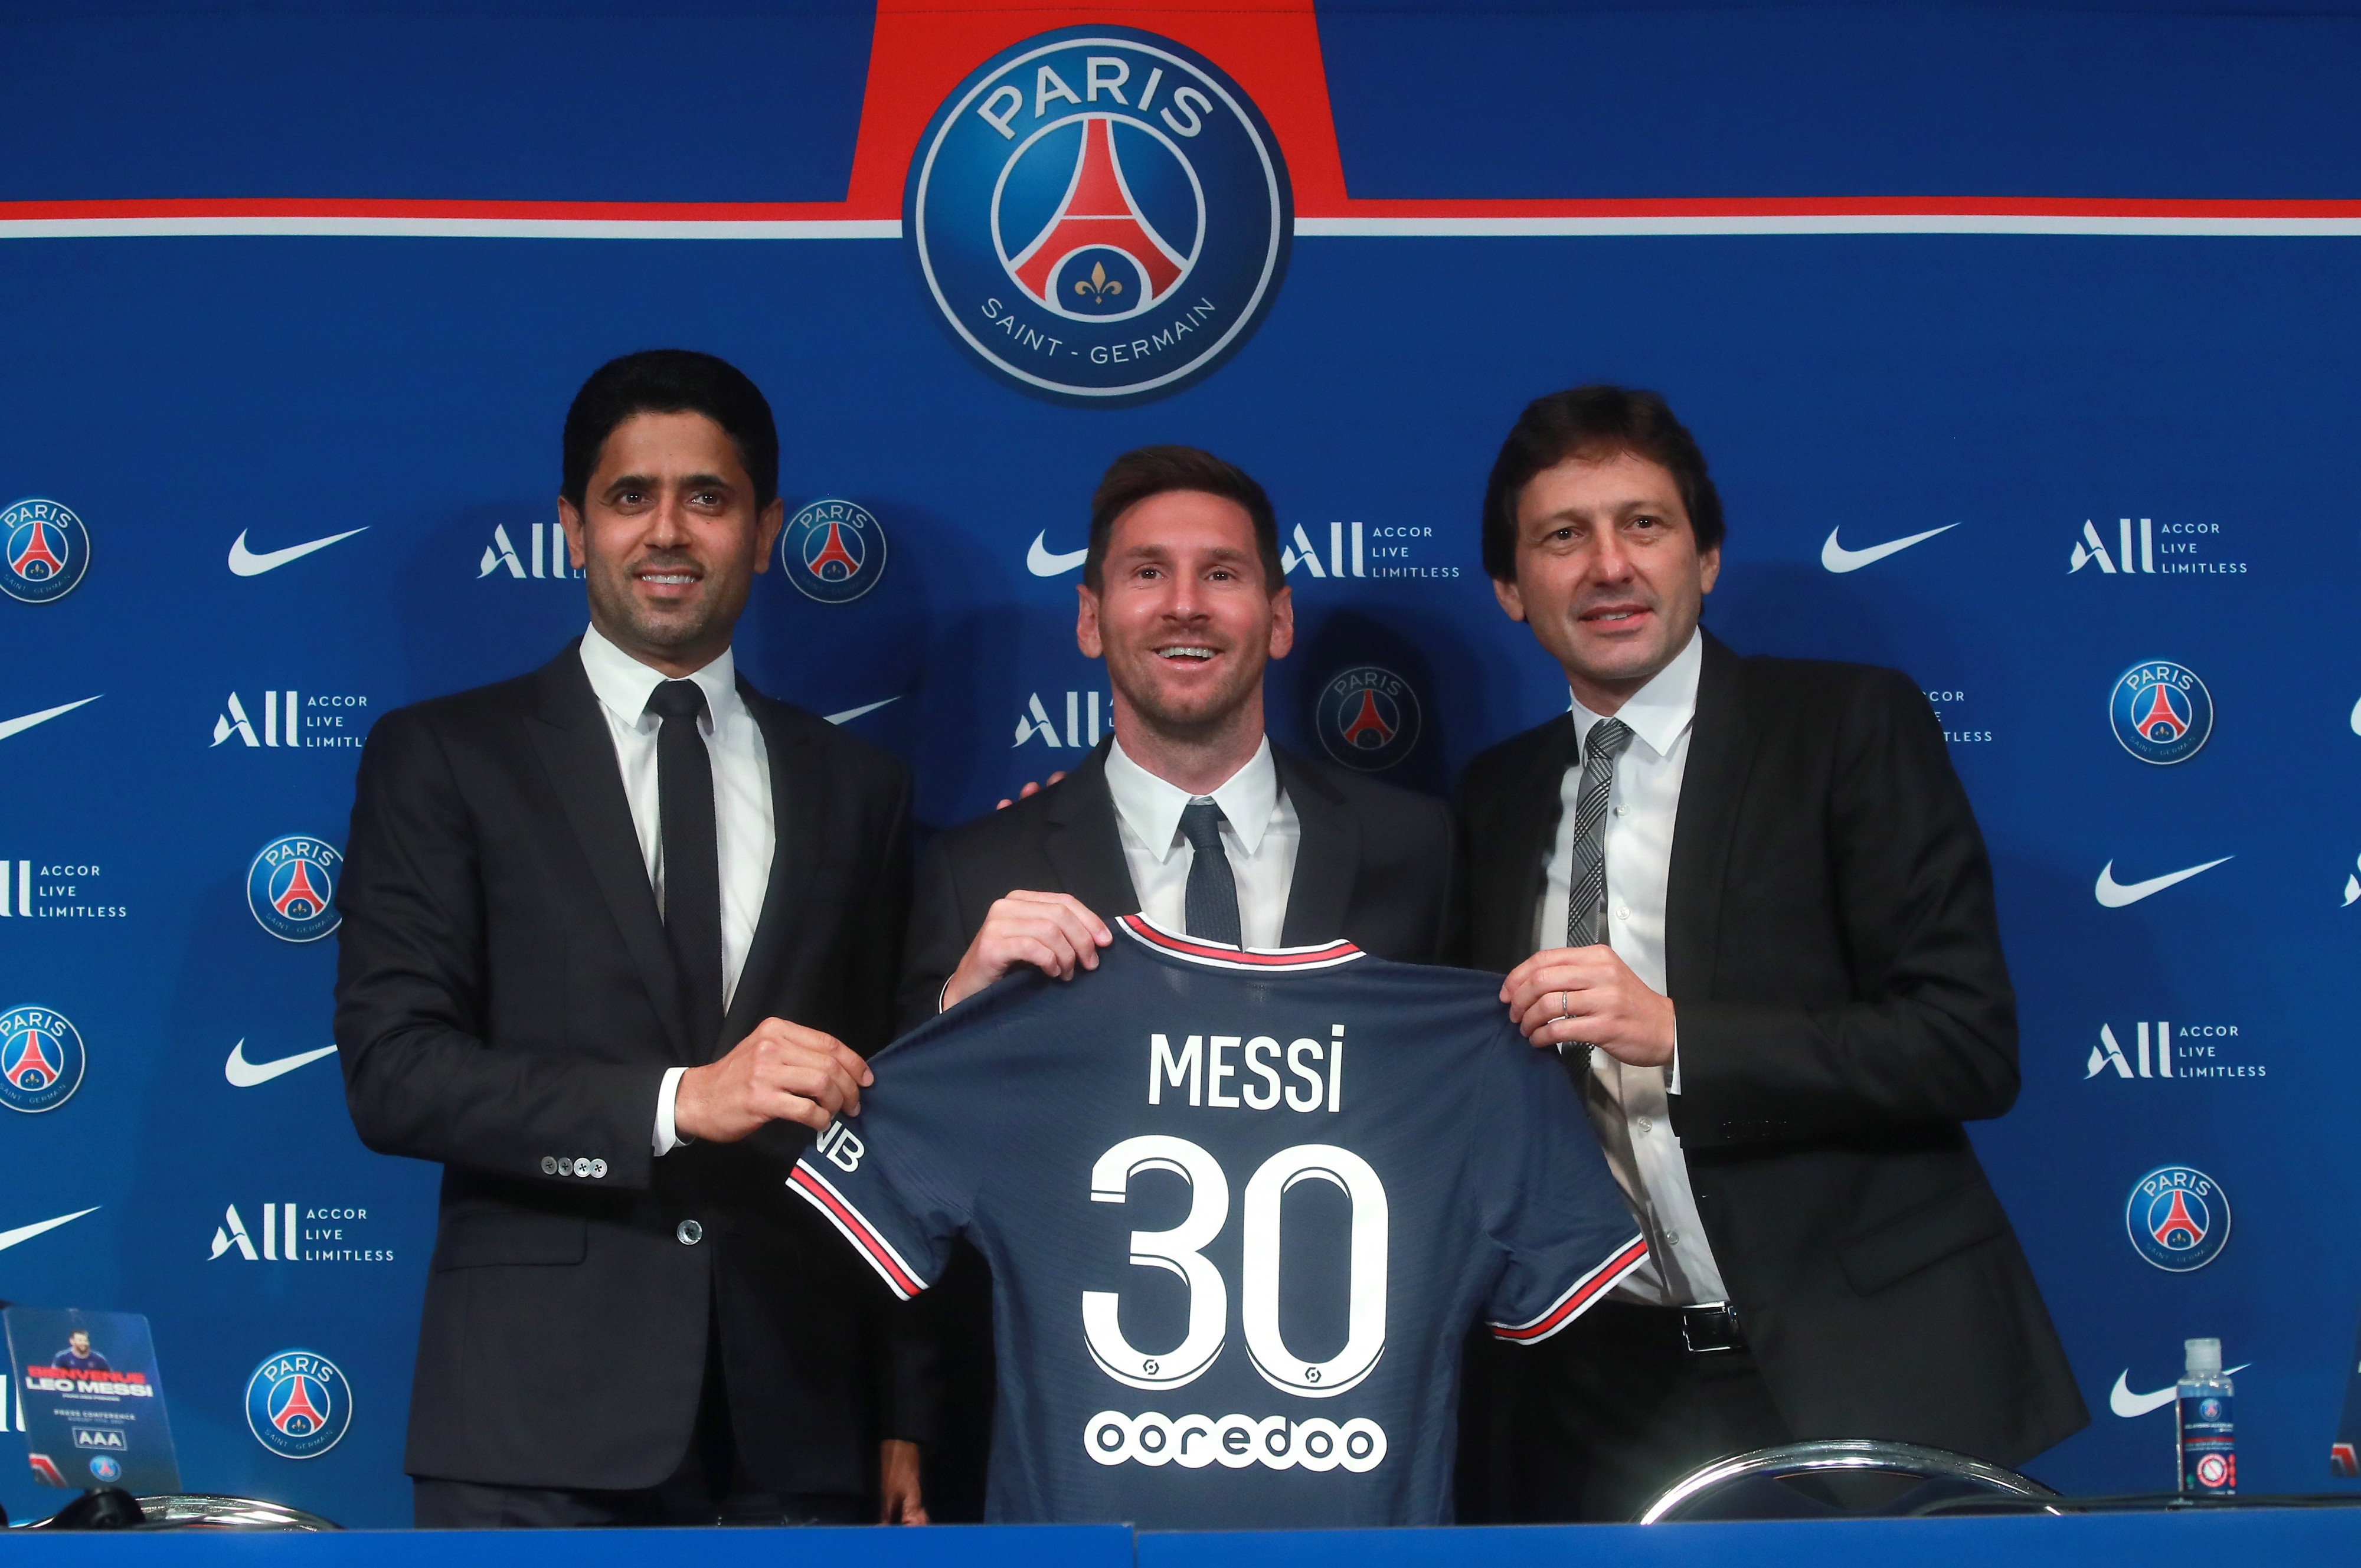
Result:
M1452 1516L1459 1348L1539 1341L1646 1259L1499 978L1117 921L874 1060L791 1185L900 1296L992 1263L987 1516Z

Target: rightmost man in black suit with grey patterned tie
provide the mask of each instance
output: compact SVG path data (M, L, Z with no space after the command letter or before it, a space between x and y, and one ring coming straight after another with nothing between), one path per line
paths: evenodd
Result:
M1653 392L1535 401L1485 494L1572 704L1466 772L1469 954L1565 1056L1650 1263L1492 1358L1478 1514L1629 1518L1794 1438L2016 1464L2089 1419L1960 1126L2016 1098L2016 997L1943 734L1908 675L1700 631L1721 531Z

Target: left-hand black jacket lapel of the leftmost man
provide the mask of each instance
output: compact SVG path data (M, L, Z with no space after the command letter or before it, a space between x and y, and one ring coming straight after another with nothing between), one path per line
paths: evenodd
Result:
M590 876L623 935L623 949L640 968L673 1056L689 1060L687 1023L680 1015L680 971L673 966L673 947L656 912L656 890L647 886L647 862L640 857L640 831L630 824L630 801L623 798L614 737L607 734L607 718L590 692L578 642L569 642L567 652L543 666L538 685L538 704L527 720L534 751L541 753L550 791L574 829L583 860L590 862Z

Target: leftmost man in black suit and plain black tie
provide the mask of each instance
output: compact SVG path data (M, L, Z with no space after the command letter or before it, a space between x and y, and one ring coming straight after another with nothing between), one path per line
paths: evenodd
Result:
M739 371L607 364L557 503L590 628L361 756L345 1093L444 1164L420 1525L923 1518L883 1296L784 1188L890 1032L909 782L734 673L777 491Z

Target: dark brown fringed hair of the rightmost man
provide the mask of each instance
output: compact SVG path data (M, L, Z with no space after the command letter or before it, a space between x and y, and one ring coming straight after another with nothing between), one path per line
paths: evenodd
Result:
M1672 472L1698 536L1698 555L1721 545L1721 494L1705 472L1705 453L1672 404L1641 387L1570 387L1525 404L1492 458L1483 491L1483 569L1495 583L1516 581L1516 508L1535 475L1568 458L1631 453Z

